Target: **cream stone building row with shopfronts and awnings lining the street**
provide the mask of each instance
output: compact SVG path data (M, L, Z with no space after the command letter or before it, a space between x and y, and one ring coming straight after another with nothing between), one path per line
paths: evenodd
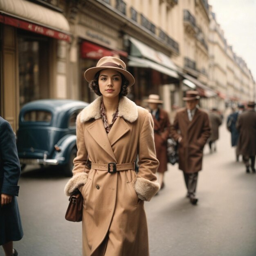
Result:
M130 99L159 94L171 112L198 90L210 109L255 99L255 81L207 0L0 0L0 115L18 128L34 99L95 99L84 72L117 56L135 76Z

